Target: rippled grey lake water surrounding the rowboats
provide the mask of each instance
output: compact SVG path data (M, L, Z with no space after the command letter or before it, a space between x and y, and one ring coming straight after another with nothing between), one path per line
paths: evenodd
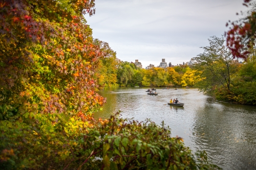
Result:
M124 118L164 121L172 136L180 136L193 152L205 150L211 163L223 169L256 169L256 107L216 102L196 88L161 89L119 87L99 93L106 98L95 117L108 118L121 110ZM166 105L170 99L184 107Z

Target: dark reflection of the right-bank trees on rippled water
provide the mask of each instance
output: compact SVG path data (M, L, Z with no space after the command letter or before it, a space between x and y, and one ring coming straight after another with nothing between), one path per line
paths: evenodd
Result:
M205 150L224 169L255 169L255 128L249 127L256 115L248 107L206 104L196 111L194 136L197 149ZM249 136L247 138L246 136Z

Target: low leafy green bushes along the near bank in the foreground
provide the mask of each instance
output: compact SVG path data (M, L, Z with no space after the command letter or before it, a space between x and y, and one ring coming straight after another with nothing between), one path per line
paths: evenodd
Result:
M52 122L57 123L52 125ZM0 122L4 169L209 169L197 164L182 138L151 120L118 118L86 122L65 115L24 115L22 122ZM32 122L40 125L30 126ZM90 123L90 125L88 124ZM90 128L89 128L90 127ZM63 131L64 128L64 131ZM4 133L3 133L4 132ZM5 150L3 150L5 148ZM204 163L203 163L204 162ZM206 168L207 167L207 168ZM212 168L214 169L214 168Z

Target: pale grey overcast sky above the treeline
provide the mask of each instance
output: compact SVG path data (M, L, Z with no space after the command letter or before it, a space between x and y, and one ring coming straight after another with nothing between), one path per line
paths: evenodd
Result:
M243 0L96 0L86 15L93 37L108 42L122 61L143 68L164 58L182 64L202 53L210 36L224 35L226 22L246 11Z

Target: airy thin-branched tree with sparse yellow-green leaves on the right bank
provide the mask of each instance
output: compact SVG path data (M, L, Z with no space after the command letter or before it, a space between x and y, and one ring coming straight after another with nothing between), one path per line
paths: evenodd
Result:
M233 73L230 67L233 56L229 48L224 45L224 38L216 36L208 39L209 46L202 47L203 54L194 59L197 61L196 68L202 71L202 81L198 83L200 89L212 89L216 85L223 85L230 90L230 76Z

